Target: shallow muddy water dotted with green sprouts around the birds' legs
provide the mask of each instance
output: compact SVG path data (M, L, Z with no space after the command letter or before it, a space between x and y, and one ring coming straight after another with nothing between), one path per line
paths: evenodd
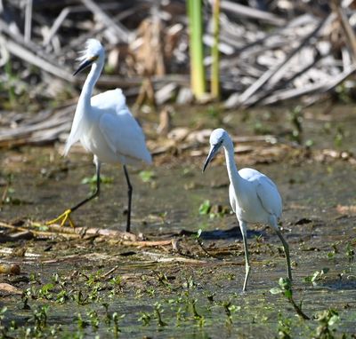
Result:
M189 114L177 112L174 125L183 126L187 123L183 117ZM207 117L202 119L203 114ZM224 123L234 135L264 132L279 139L272 146L249 143L254 151L238 152L235 159L240 168L259 169L279 186L284 201L283 233L293 261L293 296L296 304L303 301L302 309L310 320L300 319L283 294L270 292L286 275L285 258L278 237L264 225L248 229L252 268L247 293L241 293L245 264L236 217L214 213L230 210L223 154L202 174L206 153L192 156L196 150L190 149L171 155L168 161L155 158L155 165L144 169L153 171L148 182L142 180L142 169L130 169L133 232L148 239L174 239L174 246L124 246L100 238L66 240L61 236L0 243L1 262L19 264L21 270L20 275L3 274L1 280L24 293L1 292L0 303L7 307L1 320L3 334L24 337L28 331L28 337L102 338L356 335L353 114L345 106L334 108L332 114L321 109L306 112L302 143L312 145L311 151L291 143L295 125L287 109L224 115L210 110L190 115L193 126ZM348 157L338 159L323 153L325 149L344 151ZM74 152L63 159L58 147L24 147L1 151L0 156L0 192L11 176L1 221L43 223L90 192L90 185L81 184L94 172L87 154ZM73 220L77 226L124 231L123 172L104 165L102 174L112 182L102 185L98 199L73 213ZM212 211L199 214L206 200ZM197 240L199 229L202 233ZM44 306L48 309L41 311Z

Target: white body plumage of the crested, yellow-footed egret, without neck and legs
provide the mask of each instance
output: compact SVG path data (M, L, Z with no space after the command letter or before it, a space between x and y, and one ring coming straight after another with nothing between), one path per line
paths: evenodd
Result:
M106 91L91 99L90 114L83 114L76 124L73 122L65 154L78 140L101 162L152 162L142 129L126 106L120 89Z

